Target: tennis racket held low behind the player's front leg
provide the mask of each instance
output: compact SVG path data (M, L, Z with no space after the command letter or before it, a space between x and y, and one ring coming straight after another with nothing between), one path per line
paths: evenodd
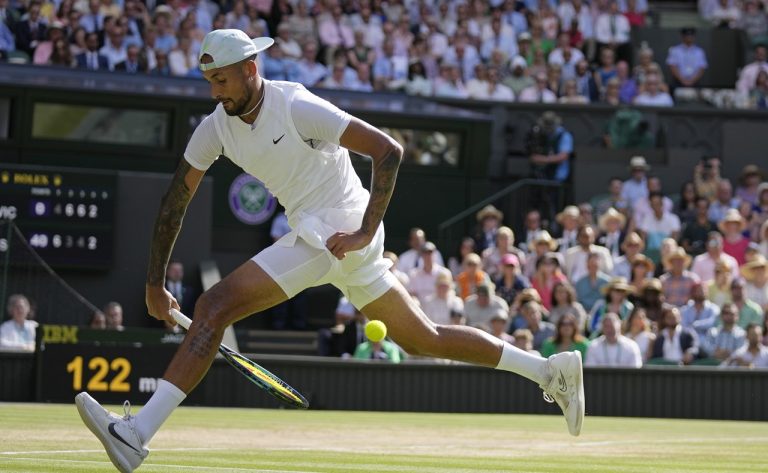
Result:
M171 316L173 316L177 324L189 330L189 325L192 323L189 317L176 309L171 309ZM219 353L240 374L272 396L299 409L307 409L309 407L309 402L304 399L304 396L254 361L249 360L223 343L219 345Z

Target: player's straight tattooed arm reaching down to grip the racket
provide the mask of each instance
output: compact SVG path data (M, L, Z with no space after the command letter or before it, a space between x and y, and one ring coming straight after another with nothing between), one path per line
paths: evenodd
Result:
M165 267L181 230L189 201L204 174L204 171L193 168L182 159L168 191L160 202L160 211L152 233L146 284L147 309L152 317L160 320L172 322L169 310L171 307L179 308L176 300L164 287Z

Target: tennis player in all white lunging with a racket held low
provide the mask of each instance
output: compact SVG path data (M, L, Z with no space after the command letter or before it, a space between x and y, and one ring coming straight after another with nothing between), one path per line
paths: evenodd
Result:
M81 417L115 466L131 472L141 465L152 437L208 371L227 326L326 283L369 319L386 323L411 354L494 367L538 383L545 399L563 410L570 433L579 435L580 354L545 359L481 330L430 322L382 256L382 218L402 147L299 84L261 78L256 55L272 44L271 38L252 40L239 30L212 31L202 43L200 69L219 103L192 135L162 200L147 273L149 313L174 323L169 311L179 305L164 287L165 268L187 205L219 156L264 182L285 207L292 231L200 296L184 342L135 417L112 414L87 393L76 397ZM348 150L373 159L370 193Z

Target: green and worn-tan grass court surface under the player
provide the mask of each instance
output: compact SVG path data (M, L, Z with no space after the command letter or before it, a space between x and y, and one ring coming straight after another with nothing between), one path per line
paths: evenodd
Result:
M185 407L138 472L768 472L766 447L758 422ZM0 404L0 471L116 470L74 405Z

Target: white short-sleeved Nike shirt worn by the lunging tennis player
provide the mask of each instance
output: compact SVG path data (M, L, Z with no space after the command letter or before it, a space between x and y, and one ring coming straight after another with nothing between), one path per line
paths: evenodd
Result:
M253 125L219 104L195 129L184 158L204 171L228 157L278 198L294 229L300 211L364 210L368 191L339 146L351 116L300 84L264 80L264 90Z

